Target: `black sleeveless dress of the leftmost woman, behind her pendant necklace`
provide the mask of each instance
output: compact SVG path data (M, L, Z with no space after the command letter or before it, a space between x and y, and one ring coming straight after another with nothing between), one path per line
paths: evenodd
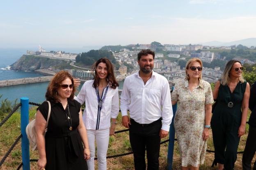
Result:
M64 110L61 103L51 103L51 115L46 132L46 170L87 170L82 140L78 133L80 103L68 100L72 120L72 130L66 118L68 107ZM47 120L48 103L38 107ZM65 114L66 112L66 114ZM71 123L71 122L70 122Z

